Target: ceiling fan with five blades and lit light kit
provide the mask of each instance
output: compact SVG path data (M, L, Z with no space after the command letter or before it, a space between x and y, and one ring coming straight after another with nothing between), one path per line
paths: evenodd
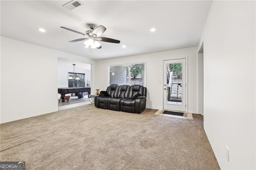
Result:
M91 48L98 48L98 49L101 48L101 44L99 41L110 42L110 43L120 43L119 40L114 40L112 38L106 38L106 37L100 37L106 31L106 28L104 26L98 26L97 28L95 28L94 24L88 24L88 26L91 30L87 30L85 32L85 34L82 32L75 31L75 30L71 30L66 27L60 27L60 28L63 28L65 30L72 31L77 34L81 34L81 35L85 36L86 38L80 38L80 39L72 40L69 42L79 42L79 41L86 40L84 42L84 45L86 48L88 48L89 46L91 46Z

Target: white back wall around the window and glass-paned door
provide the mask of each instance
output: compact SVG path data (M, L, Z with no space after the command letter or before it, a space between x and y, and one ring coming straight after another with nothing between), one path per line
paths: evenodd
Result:
M108 87L108 66L146 62L146 108L163 109L163 61L188 56L188 113L197 113L197 47L162 51L157 53L105 59L98 61L96 87L106 90ZM159 83L161 81L161 84ZM152 100L152 103L149 101Z

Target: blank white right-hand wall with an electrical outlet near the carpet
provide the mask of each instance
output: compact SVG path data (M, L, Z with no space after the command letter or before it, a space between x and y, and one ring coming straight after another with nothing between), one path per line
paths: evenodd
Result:
M214 154L223 170L255 170L255 1L213 1L202 42L204 129Z

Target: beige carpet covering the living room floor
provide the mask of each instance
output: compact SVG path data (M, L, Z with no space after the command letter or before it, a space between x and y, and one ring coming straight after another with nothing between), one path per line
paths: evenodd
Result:
M84 105L0 125L0 161L27 170L217 170L203 129L193 120Z

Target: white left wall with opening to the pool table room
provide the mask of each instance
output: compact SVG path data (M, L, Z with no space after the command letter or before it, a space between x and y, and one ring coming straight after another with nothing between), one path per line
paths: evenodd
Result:
M1 36L1 123L58 111L58 57L94 63Z

